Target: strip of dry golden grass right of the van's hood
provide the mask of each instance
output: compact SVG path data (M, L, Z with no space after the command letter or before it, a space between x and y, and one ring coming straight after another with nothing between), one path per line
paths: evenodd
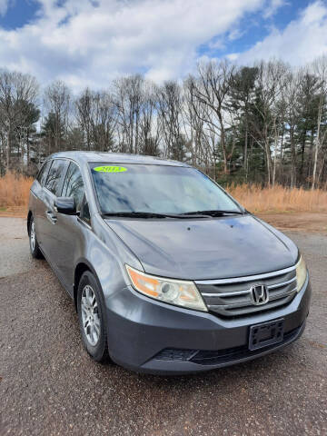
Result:
M262 188L260 185L241 184L228 186L228 193L253 213L327 212L327 191L283 186Z

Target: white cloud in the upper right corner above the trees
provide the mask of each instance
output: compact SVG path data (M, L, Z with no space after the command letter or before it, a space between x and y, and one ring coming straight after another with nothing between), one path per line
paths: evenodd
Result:
M302 65L326 53L327 5L318 1L307 6L298 19L282 31L272 29L270 35L250 50L233 56L241 64L276 57L292 65Z

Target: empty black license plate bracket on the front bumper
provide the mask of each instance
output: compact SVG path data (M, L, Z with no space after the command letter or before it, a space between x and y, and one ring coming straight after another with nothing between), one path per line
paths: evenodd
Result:
M249 350L254 351L282 342L283 318L270 322L255 324L250 327Z

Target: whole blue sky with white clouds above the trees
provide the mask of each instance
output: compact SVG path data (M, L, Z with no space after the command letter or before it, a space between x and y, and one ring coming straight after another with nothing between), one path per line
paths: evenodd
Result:
M0 0L0 68L78 93L122 74L183 79L202 59L327 54L327 0Z

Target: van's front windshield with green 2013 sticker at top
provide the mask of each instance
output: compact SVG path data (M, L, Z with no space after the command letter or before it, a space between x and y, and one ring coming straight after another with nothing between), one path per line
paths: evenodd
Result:
M203 173L183 166L90 163L102 213L240 213Z

